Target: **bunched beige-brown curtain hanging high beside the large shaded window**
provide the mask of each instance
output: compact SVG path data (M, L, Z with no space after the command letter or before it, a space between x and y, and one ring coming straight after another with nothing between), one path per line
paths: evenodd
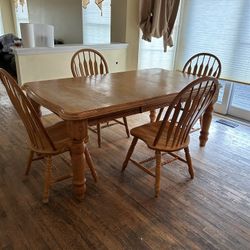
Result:
M163 37L164 52L172 47L171 33L177 16L180 0L140 0L139 26L142 39L151 42L152 37Z

